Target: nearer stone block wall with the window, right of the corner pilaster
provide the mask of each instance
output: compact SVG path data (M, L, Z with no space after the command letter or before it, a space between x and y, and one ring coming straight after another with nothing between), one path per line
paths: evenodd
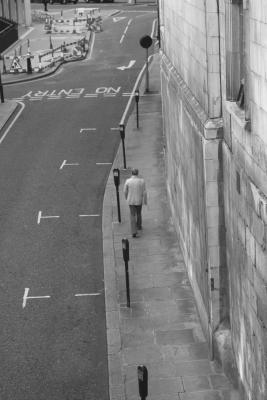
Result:
M226 30L222 30L226 88L227 80L235 79L227 70L225 52L234 46L227 32L231 17L233 35L236 38L239 34L236 17L227 13L227 7L241 5L221 3L226 22ZM243 19L247 35L243 60L248 70L247 110L240 109L235 101L227 101L227 90L223 96L227 264L232 345L238 371L247 398L263 400L267 397L267 2L243 1Z

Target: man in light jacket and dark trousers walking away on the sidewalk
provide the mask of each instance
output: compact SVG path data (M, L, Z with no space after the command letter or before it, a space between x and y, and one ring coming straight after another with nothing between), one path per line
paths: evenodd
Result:
M142 229L142 205L147 204L146 184L143 178L138 176L138 169L132 170L131 178L124 185L124 196L130 208L131 232L136 237L137 229Z

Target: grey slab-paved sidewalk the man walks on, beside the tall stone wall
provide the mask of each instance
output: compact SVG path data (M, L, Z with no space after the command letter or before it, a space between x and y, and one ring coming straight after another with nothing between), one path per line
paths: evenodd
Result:
M220 368L209 360L192 288L168 206L162 137L159 57L150 71L150 94L140 98L140 129L135 113L126 127L128 170L121 148L114 168L121 170L121 219L111 171L103 209L103 249L110 400L139 398L137 365L148 369L148 400L236 400ZM143 93L144 90L141 90ZM149 196L143 231L130 235L122 195L130 167L139 168ZM131 308L126 307L122 238L130 243Z

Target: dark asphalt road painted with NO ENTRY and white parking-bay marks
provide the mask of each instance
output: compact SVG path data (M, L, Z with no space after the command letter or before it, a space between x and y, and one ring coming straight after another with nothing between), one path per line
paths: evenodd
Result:
M133 11L87 60L5 87L25 108L0 144L1 399L108 399L102 201L156 18Z

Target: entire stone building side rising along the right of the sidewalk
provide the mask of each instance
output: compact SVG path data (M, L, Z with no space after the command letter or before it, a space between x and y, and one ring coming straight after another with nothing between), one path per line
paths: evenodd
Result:
M159 0L173 219L211 356L267 398L267 1ZM264 129L265 128L265 129Z

